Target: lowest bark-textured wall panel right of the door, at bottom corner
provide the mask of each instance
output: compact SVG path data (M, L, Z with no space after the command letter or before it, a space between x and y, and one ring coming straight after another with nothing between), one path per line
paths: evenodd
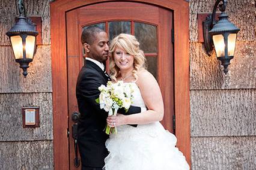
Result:
M191 169L254 170L256 136L191 138Z

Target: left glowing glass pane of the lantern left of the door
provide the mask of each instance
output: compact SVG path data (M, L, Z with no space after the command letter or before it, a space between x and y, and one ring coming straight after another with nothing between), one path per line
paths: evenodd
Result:
M10 37L15 59L23 58L22 38L19 35Z

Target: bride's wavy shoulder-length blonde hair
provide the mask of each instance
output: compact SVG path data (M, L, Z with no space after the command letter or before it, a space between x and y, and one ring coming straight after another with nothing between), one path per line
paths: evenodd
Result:
M117 77L120 77L120 69L115 65L114 51L119 47L134 57L132 76L135 81L138 79L137 72L139 69L145 69L145 56L144 52L139 49L139 41L130 34L120 34L115 37L110 44L109 52L111 53L111 59L109 63L109 69L111 71L110 77L112 80L117 81Z

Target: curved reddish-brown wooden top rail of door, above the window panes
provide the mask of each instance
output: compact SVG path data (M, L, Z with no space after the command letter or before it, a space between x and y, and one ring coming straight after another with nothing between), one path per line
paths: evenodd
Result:
M159 7L135 2L105 2L77 10L82 26L109 20L159 21Z

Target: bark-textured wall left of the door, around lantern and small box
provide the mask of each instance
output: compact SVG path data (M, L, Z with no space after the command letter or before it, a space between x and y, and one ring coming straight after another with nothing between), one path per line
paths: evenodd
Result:
M0 3L0 169L53 169L52 71L49 0L26 0L28 16L41 16L42 45L22 75L5 33L19 16L18 0ZM40 107L40 128L23 128L22 107Z

